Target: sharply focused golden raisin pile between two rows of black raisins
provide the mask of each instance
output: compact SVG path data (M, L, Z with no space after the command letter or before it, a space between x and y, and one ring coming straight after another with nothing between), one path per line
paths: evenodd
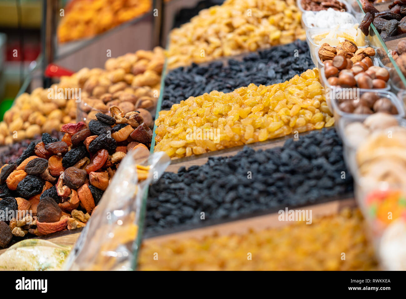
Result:
M251 83L230 93L212 91L190 97L171 110L160 111L155 124L154 152L182 158L330 127L334 118L328 110L319 71L314 68L283 83ZM205 138L203 134L193 136L193 130L210 129L213 133L205 134Z

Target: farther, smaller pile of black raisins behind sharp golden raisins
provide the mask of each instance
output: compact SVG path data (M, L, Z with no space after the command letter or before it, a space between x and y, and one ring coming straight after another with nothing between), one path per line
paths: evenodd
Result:
M161 109L170 109L190 96L197 97L212 90L230 92L250 83L285 82L313 67L309 47L306 41L300 40L247 54L242 61L229 59L227 65L216 61L206 66L178 67L165 77Z

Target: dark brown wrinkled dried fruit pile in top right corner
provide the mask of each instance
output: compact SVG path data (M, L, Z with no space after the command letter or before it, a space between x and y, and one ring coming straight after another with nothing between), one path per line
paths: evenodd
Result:
M374 24L382 38L406 33L406 0L395 0L389 4L389 10L378 11L367 0L363 1L365 12L359 28L365 34L369 34L369 26Z

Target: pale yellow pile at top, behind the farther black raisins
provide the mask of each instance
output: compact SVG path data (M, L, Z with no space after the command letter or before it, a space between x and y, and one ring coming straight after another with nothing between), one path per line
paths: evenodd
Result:
M226 0L171 31L168 67L305 39L300 15L295 0Z

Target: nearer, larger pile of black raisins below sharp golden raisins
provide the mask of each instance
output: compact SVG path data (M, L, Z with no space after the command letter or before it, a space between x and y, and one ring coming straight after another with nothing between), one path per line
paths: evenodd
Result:
M341 139L334 129L323 129L288 139L282 147L244 147L235 156L165 172L149 187L146 232L275 212L352 191Z

